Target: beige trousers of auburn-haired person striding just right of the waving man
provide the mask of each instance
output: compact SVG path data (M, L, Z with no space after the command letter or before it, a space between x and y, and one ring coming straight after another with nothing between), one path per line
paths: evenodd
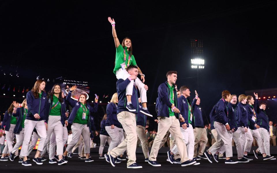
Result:
M214 155L216 152L219 152L219 149L224 146L226 151L226 157L233 157L232 150L232 138L229 135L229 132L226 130L226 127L222 123L214 122L214 128L217 131L217 141L208 149L209 152Z

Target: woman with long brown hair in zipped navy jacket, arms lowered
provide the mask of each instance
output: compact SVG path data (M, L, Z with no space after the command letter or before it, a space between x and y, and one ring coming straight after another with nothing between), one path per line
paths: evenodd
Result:
M26 115L26 119L24 121L24 140L21 148L21 156L24 157L22 165L23 166L31 166L32 164L27 159L28 146L33 133L33 129L35 128L38 132L38 136L40 136L40 143L38 145L38 150L33 158L33 161L42 165L42 161L40 160L40 151L43 150L44 142L46 140L46 93L45 93L45 85L46 82L44 80L37 80L31 91L27 93L27 106L28 112Z

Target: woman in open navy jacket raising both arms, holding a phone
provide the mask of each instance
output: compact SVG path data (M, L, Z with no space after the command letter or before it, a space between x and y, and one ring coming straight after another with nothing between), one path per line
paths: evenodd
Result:
M70 106L73 107L71 114L68 119L68 123L71 125L72 130L72 140L68 144L63 157L66 160L68 152L71 152L72 148L79 141L80 136L82 135L85 145L85 162L92 162L93 160L89 156L90 153L90 121L89 116L92 116L90 113L97 112L98 109L98 99L95 98L94 108L87 104L87 94L83 93L80 95L78 101L71 99L71 93L77 88L77 86L72 86L66 100L69 102Z

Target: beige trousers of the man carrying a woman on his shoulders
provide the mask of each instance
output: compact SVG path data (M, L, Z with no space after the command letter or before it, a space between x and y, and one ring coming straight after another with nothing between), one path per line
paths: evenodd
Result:
M121 123L124 131L126 132L126 138L117 147L110 150L112 157L121 155L124 151L128 150L127 166L136 163L136 114L122 111L117 114L117 120Z

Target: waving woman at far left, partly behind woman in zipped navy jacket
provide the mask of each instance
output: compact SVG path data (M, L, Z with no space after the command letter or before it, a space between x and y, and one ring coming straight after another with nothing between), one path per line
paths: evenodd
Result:
M22 102L22 106L19 107L19 104L16 101L13 102L14 111L12 112L12 116L17 118L17 122L14 128L14 133L16 136L16 144L12 151L10 151L10 161L14 161L14 153L18 150L18 148L23 144L24 139L24 121L28 112L27 99L24 99ZM19 163L23 162L23 157L19 156Z

